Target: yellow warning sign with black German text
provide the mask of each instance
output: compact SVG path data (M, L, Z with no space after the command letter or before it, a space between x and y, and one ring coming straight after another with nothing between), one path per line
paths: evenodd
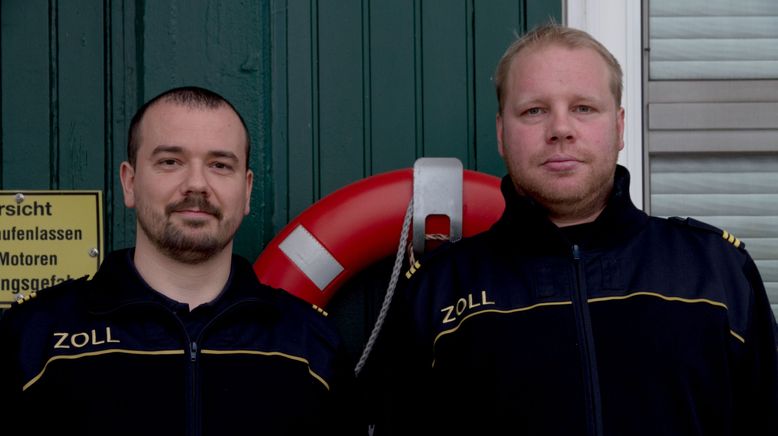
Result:
M0 307L102 260L102 192L0 191Z

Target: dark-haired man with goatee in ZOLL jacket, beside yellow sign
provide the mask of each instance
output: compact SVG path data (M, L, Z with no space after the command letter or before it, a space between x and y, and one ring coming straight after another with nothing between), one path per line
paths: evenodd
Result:
M232 253L254 176L241 116L214 92L176 88L129 130L120 176L135 247L4 314L3 434L346 431L334 329Z

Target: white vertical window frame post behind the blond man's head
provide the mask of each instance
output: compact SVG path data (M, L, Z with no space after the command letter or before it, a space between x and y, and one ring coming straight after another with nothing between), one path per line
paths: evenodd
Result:
M563 22L589 32L613 53L624 70L624 150L619 163L631 173L630 196L643 208L643 67L639 1L563 0Z

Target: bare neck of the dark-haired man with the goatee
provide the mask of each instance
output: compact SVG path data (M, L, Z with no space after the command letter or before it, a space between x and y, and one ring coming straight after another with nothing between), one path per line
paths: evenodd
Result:
M162 295L195 307L216 299L230 275L232 243L198 264L179 262L160 252L138 229L135 268L143 280Z

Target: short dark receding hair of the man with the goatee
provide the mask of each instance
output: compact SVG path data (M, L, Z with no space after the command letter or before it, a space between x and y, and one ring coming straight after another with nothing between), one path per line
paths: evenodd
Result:
M249 152L251 151L251 137L249 136L249 129L246 127L246 122L240 115L235 106L232 105L226 98L221 95L210 91L205 88L197 86L183 86L180 88L169 89L162 94L157 95L151 100L147 101L141 106L130 121L130 129L127 134L127 161L130 165L135 167L135 163L138 159L138 148L140 147L140 122L143 120L143 116L146 111L154 104L158 102L168 102L179 106L184 106L192 109L218 109L222 106L227 106L232 109L233 112L240 119L240 123L243 126L243 131L246 134L246 170L249 167Z

